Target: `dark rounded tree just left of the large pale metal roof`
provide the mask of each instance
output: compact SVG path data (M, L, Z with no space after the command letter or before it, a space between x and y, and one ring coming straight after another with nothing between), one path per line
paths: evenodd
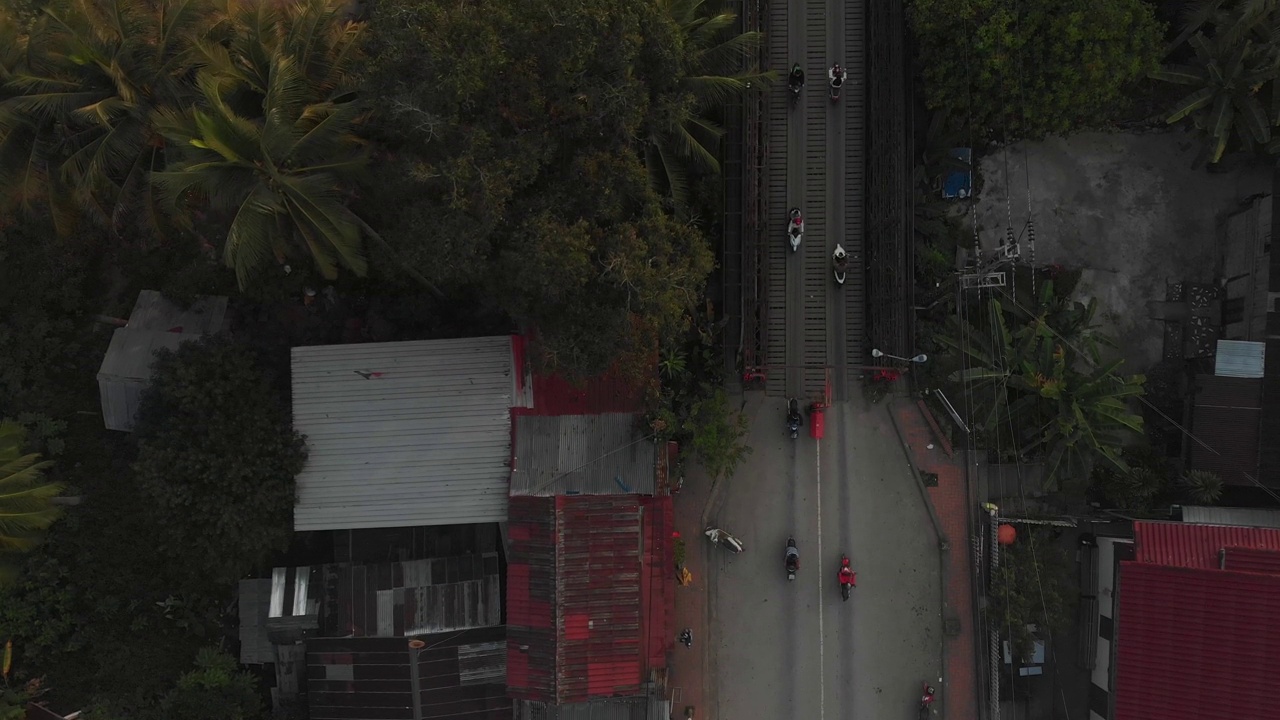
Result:
M288 546L305 446L244 346L157 352L136 434L138 487L172 520L152 539L173 562L230 583Z

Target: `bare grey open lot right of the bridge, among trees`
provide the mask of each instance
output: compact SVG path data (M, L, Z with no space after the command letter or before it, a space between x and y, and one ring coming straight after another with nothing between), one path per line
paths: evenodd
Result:
M1165 299L1166 282L1212 281L1222 218L1271 192L1271 163L1229 158L1229 170L1211 173L1193 167L1198 151L1196 137L1169 131L1084 133L988 154L979 168L983 247L1011 225L1023 261L1083 270L1076 295L1098 299L1097 319L1119 340L1124 372L1143 372L1162 342L1147 304Z

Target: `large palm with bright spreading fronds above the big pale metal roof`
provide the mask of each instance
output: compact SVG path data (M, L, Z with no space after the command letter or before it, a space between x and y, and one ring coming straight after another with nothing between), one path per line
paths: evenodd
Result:
M206 109L160 113L157 127L180 155L152 179L175 208L202 201L230 215L223 259L242 288L297 247L325 278L339 266L364 275L366 225L346 205L369 161L353 133L362 113L314 97L292 56L270 64L260 118L232 108L236 86L207 72L197 81Z

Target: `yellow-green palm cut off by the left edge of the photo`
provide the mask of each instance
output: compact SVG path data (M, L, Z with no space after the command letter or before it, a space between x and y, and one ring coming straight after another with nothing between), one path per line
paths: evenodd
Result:
M40 455L23 455L27 432L18 423L0 421L0 553L31 550L40 533L60 515L54 498L61 486L44 482L52 462ZM0 564L0 583L12 578L13 566Z

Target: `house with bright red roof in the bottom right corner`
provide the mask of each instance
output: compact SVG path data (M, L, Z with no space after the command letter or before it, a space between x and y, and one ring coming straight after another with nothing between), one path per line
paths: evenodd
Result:
M1098 547L1091 717L1275 714L1280 529L1137 521Z

